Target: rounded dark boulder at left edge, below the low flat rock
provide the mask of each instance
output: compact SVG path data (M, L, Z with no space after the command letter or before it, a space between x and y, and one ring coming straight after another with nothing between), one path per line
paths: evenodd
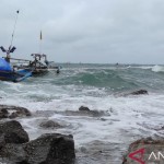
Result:
M16 120L0 124L0 142L25 143L28 142L28 134Z

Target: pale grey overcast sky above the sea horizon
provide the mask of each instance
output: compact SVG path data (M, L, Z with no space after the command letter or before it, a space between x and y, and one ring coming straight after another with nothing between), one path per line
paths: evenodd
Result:
M56 62L164 63L164 0L0 0L0 45ZM3 55L0 52L1 56Z

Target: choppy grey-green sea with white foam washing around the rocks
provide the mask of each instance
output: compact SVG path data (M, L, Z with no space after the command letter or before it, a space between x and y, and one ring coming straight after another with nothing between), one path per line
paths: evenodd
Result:
M28 108L20 118L31 139L42 133L73 134L77 164L119 164L140 138L164 137L164 66L61 65L21 83L0 81L0 103ZM148 95L129 95L138 90ZM80 106L103 113L81 115ZM43 129L44 120L63 128Z

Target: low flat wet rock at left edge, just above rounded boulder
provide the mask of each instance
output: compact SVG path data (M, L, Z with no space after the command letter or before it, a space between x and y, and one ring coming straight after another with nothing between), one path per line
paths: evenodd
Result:
M1 118L16 118L31 116L31 112L24 107L0 105L0 119Z

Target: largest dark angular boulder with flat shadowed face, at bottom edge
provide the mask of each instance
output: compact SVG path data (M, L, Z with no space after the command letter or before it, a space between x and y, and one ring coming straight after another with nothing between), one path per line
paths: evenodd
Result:
M30 164L73 164L74 142L72 136L43 134L24 145Z

